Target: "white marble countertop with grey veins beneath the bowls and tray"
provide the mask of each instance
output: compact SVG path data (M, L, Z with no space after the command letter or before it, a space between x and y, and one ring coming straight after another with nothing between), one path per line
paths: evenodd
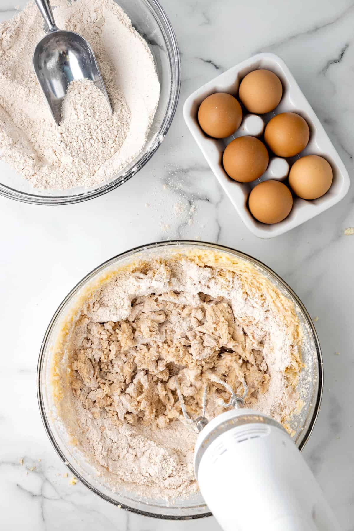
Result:
M38 352L64 295L110 256L178 237L218 242L254 255L277 271L310 314L318 316L325 387L304 456L343 529L353 530L354 236L344 236L344 228L354 226L354 187L341 203L305 225L270 241L257 239L241 224L206 166L183 122L182 105L194 89L244 58L260 50L277 53L352 175L354 3L162 3L179 41L183 74L177 114L157 155L124 186L85 203L40 207L0 198L0 528L218 529L213 518L167 523L138 517L110 506L83 485L69 485L37 405ZM1 20L11 16L11 6L11 0L1 0ZM192 215L175 215L177 201L197 208Z

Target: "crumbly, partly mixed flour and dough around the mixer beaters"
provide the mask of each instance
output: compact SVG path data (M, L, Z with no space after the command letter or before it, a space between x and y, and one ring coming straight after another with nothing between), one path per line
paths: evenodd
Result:
M111 488L174 498L197 490L196 433L182 416L230 398L286 424L298 399L302 333L293 303L252 265L211 251L136 262L83 295L55 348L67 431Z

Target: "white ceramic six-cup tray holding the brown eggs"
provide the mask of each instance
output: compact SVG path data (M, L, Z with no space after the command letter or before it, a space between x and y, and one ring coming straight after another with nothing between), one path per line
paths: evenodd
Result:
M210 136L207 136L201 130L197 120L198 108L204 98L214 92L229 92L237 97L240 81L246 74L257 68L271 70L278 75L283 85L283 96L280 104L272 113L262 115L264 122L267 123L275 114L286 111L295 112L303 116L310 129L310 140L307 147L300 153L300 156L321 155L330 162L333 169L333 183L325 195L312 201L306 201L294 196L293 207L289 216L274 225L265 225L257 221L247 207L249 192L260 181L266 178L272 178L270 177L271 172L266 172L260 179L252 183L238 183L233 181L222 166L222 153L226 145L232 140L232 136L228 139L221 140L210 138ZM209 81L209 83L197 89L187 98L184 104L183 114L189 131L194 136L206 161L208 161L215 177L217 177L219 183L229 196L239 216L249 230L260 238L272 238L301 225L338 203L348 192L349 175L346 167L323 129L320 120L317 118L314 110L295 81L295 78L293 78L289 68L277 55L269 53L254 55ZM237 132L235 133L235 138L236 136L238 136ZM291 165L297 158L299 156L287 160Z

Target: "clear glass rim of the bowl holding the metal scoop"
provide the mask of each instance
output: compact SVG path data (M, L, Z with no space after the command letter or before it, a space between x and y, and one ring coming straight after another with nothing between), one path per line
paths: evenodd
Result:
M168 36L168 41L170 44L170 52L171 52L168 55L168 58L169 58L171 72L172 72L172 80L174 81L170 85L169 105L167 107L165 116L163 117L163 121L160 126L160 129L156 133L149 151L146 151L144 155L142 155L141 158L138 161L136 161L136 164L134 164L134 166L127 171L126 174L120 176L119 178L113 179L106 185L105 184L100 185L98 188L92 190L91 192L82 192L80 194L75 194L75 195L68 194L68 195L48 196L48 195L41 195L41 194L36 194L36 193L21 192L19 190L12 188L11 186L5 185L0 182L0 196L2 195L5 198L13 199L21 203L40 204L40 205L45 205L45 206L49 206L49 205L58 206L58 205L75 204L75 203L82 203L84 201L89 201L90 199L97 198L100 195L110 192L111 190L115 190L116 188L118 188L118 186L121 186L122 184L126 183L131 177L136 175L139 172L139 170L141 170L145 166L145 164L152 158L154 153L158 150L158 148L160 147L163 139L165 138L170 128L170 125L175 116L177 105L178 105L180 83L181 83L180 53L179 53L179 47L178 47L178 42L177 42L175 31L172 28L169 18L165 10L161 6L160 2L158 0L144 0L144 1L150 4L150 6L153 8L153 11L156 12L160 16L163 23L165 24L165 26L161 25L160 29L161 29L161 32L163 33L163 37L165 38L165 40L166 40L166 35Z

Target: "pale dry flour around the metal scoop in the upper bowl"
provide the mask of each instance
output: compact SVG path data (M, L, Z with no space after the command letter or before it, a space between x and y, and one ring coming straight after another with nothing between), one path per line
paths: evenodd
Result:
M41 189L92 187L113 178L143 149L160 86L146 42L113 0L57 0L59 28L80 33L96 55L112 115L93 83L71 84L57 127L32 68L44 36L32 3L0 24L0 150Z

